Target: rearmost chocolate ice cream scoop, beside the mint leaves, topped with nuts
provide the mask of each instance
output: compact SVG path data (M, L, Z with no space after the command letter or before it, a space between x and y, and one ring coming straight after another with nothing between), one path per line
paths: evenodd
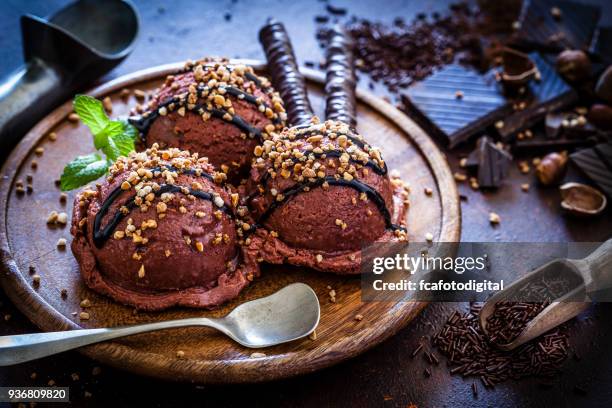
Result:
M208 157L230 180L248 173L253 149L285 125L270 82L227 60L187 63L170 75L139 118L146 146L177 147Z

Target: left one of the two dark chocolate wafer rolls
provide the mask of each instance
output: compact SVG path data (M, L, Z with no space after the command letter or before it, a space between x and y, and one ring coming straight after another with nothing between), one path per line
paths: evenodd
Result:
M259 31L259 42L266 53L272 83L285 102L289 124L309 123L314 113L285 26L268 20Z

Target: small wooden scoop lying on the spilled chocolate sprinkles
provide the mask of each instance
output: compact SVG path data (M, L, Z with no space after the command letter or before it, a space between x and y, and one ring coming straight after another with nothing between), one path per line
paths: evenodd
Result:
M503 291L497 292L483 305L480 311L480 327L485 334L487 331L487 318L495 310L495 304L502 301L512 301L521 288L539 279L545 273L554 272L563 274L576 282L575 285L558 299L553 299L540 313L538 313L523 329L523 331L510 343L496 344L502 350L514 350L526 342L535 339L541 334L565 323L569 319L586 310L590 302L597 301L604 296L610 297L612 289L612 239L601 244L584 259L556 259L539 267L521 279L513 282Z

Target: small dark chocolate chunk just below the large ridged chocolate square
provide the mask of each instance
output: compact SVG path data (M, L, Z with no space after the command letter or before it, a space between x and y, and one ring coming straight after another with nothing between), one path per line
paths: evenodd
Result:
M478 185L484 188L497 188L508 174L512 156L497 146L487 136L478 139L476 149L470 153L466 167L478 168Z

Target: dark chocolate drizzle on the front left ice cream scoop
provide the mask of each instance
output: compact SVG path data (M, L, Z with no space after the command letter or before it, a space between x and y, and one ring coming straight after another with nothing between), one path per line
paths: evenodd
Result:
M173 169L172 167L167 167L167 168ZM151 171L154 171L154 172L159 171L159 170L160 168L151 169ZM211 174L208 174L206 172L202 172L198 174L193 169L184 170L181 172L181 174L199 175L209 180L213 180L213 176ZM160 195L164 193L182 192L184 188L185 187L178 186L175 184L162 184L159 190L154 191L153 193L155 194L156 197L159 197ZM211 194L205 191L200 191L200 190L193 190L191 188L188 188L188 189L189 189L189 194L201 200L213 201L215 198L214 194ZM112 219L110 220L110 222L104 228L101 227L102 219L108 213L108 210L110 209L111 205L117 200L117 198L124 191L125 190L121 189L121 186L115 188L108 195L108 197L106 197L106 200L104 200L104 202L100 206L100 210L98 211L98 213L96 214L96 217L94 218L93 241L94 241L94 245L97 248L101 248L104 245L104 243L112 236L113 232L115 231L119 223L121 223L121 221L127 216L122 211L117 211L115 215L112 217ZM125 203L123 204L123 207L126 207L129 211L132 211L135 208L137 208L138 205L136 205L136 203L134 202L135 198L136 198L136 195L135 194L132 195L130 198L128 198L125 201ZM219 210L227 214L230 218L232 217L233 213L227 205L223 204L222 207L217 207L217 208L219 208Z

